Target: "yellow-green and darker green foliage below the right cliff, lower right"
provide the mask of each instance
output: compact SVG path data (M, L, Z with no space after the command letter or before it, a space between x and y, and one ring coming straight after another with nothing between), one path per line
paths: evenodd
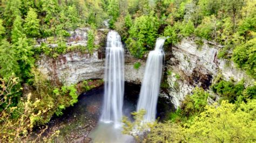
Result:
M241 83L234 85L231 82L221 81L217 84L218 89L224 90L223 93L233 92L228 88L244 90L239 88L243 86ZM221 88L223 84L227 85ZM238 102L240 99L237 99L234 101L235 104L222 100L220 104L215 102L213 105L208 105L207 97L210 94L196 88L191 96L185 98L181 108L171 113L170 120L165 123L156 121L142 124L145 111L139 111L133 113L135 121L132 123L127 118L123 119L123 133L145 142L254 142L256 141L255 85L246 88L243 93L252 96L246 96L248 98L245 101ZM223 96L226 97L226 94L224 93ZM244 96L242 92L237 94ZM233 97L226 99L233 102ZM150 132L148 132L149 128ZM134 131L144 134L136 134Z

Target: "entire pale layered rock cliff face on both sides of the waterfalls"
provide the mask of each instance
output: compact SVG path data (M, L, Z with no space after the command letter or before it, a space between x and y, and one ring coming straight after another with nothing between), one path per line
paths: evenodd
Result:
M82 45L87 43L87 30L80 28L71 32L68 45ZM63 84L73 84L80 81L104 78L106 34L108 30L98 30L95 44L99 46L93 54L79 51L59 55L57 59L41 55L37 61L38 69L50 80ZM54 45L51 45L54 46ZM167 79L167 98L174 106L180 105L184 97L191 94L194 87L208 89L214 77L223 75L225 80L240 81L242 78L250 79L245 83L253 84L254 80L248 77L244 71L235 68L231 61L217 58L220 45L204 41L203 46L198 46L192 39L183 39L180 44L171 47L166 52L165 74ZM170 49L170 48L169 48ZM134 69L134 63L140 62L141 66ZM144 76L146 61L137 60L126 52L125 54L125 80L127 82L141 84ZM166 91L165 91L166 92ZM162 94L164 96L166 94Z

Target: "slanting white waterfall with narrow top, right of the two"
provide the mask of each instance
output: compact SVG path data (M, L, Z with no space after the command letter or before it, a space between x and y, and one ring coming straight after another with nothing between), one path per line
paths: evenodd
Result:
M146 62L142 88L140 89L137 111L140 109L146 110L144 121L148 122L156 119L157 100L163 71L164 42L165 39L158 38L154 51L150 51Z

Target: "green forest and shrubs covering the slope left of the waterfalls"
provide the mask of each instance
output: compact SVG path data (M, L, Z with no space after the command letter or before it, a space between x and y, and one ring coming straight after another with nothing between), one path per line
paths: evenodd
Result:
M107 18L108 4L100 0L1 1L1 142L26 141L34 127L45 125L53 115L62 115L62 110L77 103L81 92L102 84L101 80L95 80L66 86L49 81L37 70L35 62L41 53L52 58L75 49L92 53L97 48L95 27L102 26ZM68 47L66 37L79 26L92 27L87 46ZM38 39L47 40L35 46ZM39 137L41 133L36 140Z

